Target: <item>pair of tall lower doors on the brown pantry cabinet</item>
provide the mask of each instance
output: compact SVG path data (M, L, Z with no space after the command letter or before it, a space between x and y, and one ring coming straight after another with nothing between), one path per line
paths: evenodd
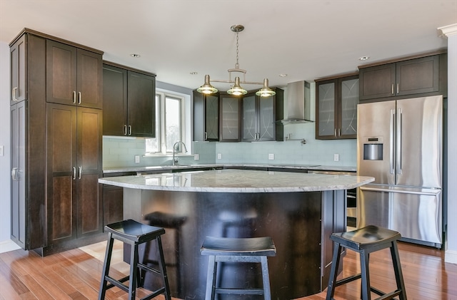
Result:
M101 110L48 103L47 244L100 233Z

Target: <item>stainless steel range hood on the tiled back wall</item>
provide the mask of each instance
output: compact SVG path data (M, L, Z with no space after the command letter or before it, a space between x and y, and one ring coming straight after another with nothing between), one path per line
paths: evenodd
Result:
M283 124L311 123L311 84L308 81L297 81L287 84L286 118Z

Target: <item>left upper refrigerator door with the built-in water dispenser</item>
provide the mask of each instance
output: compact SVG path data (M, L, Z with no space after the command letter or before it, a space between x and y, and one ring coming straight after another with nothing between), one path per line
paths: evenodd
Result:
M357 105L357 174L395 184L396 101Z

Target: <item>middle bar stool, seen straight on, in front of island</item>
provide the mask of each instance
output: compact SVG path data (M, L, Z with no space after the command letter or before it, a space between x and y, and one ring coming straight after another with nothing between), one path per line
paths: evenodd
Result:
M271 300L270 277L266 259L266 257L276 256L276 247L271 237L206 237L200 252L201 255L209 255L206 300L214 300L216 294L263 295L265 300ZM229 289L216 286L218 262L261 263L263 289Z

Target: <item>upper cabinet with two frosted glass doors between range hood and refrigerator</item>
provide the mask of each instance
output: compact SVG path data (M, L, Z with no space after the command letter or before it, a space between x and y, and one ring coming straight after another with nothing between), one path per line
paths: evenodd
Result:
M358 76L316 81L316 139L357 138Z

